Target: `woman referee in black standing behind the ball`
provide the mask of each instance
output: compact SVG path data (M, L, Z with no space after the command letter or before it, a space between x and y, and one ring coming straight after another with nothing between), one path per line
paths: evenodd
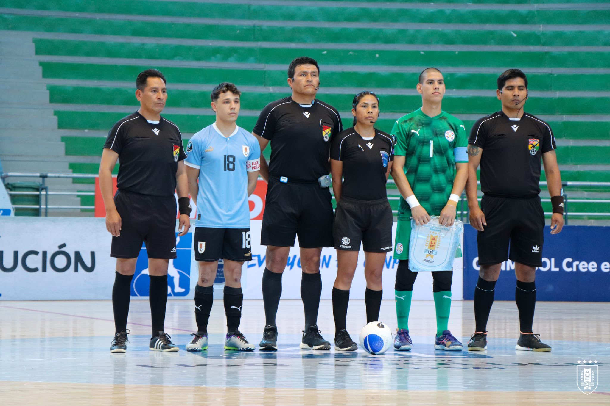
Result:
M386 183L392 169L394 143L390 135L373 127L379 117L375 93L356 94L351 112L353 127L339 133L331 145L332 190L337 200L332 229L337 248L332 314L338 351L358 348L346 330L345 319L361 242L367 281L364 293L367 323L379 320L381 273L386 253L392 251L393 218Z

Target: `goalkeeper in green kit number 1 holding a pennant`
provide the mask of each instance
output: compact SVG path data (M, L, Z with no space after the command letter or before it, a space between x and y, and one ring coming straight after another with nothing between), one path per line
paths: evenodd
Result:
M417 272L409 270L411 217L423 225L437 215L441 225L453 225L468 177L466 129L461 120L441 110L445 81L439 69L425 69L417 91L422 94L422 108L400 117L391 134L397 142L392 178L401 194L394 246L394 258L400 260L395 285L397 351L412 348L408 321ZM434 348L462 351L462 343L448 330L453 271L435 271L432 278L437 325Z

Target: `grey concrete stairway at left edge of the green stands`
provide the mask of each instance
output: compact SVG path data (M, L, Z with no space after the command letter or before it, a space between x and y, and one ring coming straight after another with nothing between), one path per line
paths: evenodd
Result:
M0 55L0 159L4 172L70 172L32 36L19 31L2 32ZM40 182L40 178L10 177L6 181ZM47 178L45 184L51 192L82 189L66 178ZM74 195L49 196L49 206L79 205L81 201ZM49 210L49 215L66 214L81 212Z

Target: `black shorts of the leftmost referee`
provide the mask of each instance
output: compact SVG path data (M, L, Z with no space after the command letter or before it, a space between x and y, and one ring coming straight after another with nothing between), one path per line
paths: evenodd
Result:
M111 257L137 258L144 242L149 258L176 258L176 198L118 190L114 201L121 234L112 237Z

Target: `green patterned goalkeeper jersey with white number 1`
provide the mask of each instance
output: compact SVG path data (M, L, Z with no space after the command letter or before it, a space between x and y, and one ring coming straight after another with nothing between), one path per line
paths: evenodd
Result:
M455 164L468 163L464 123L445 111L429 117L418 109L396 121L392 136L395 155L405 157L404 173L415 197L429 215L440 215L451 195ZM398 220L410 217L411 208L401 197Z

